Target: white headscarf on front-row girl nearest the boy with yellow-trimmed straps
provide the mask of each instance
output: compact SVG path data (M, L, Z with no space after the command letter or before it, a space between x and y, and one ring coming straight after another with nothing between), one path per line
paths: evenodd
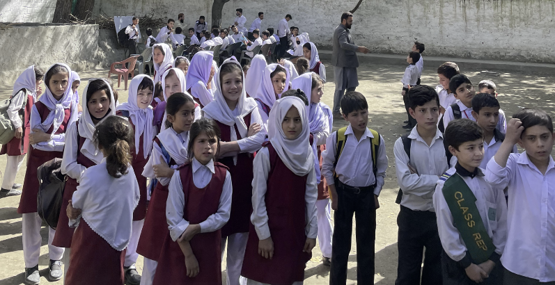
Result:
M297 108L302 121L302 131L294 140L286 138L281 127L283 117L286 116L291 107ZM269 112L268 138L272 142L274 149L276 149L281 161L293 173L304 176L314 170L314 157L310 145L310 129L308 128L306 106L304 106L301 99L290 96L276 101L272 111Z

